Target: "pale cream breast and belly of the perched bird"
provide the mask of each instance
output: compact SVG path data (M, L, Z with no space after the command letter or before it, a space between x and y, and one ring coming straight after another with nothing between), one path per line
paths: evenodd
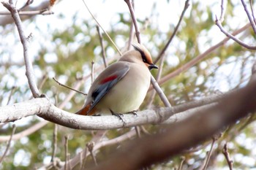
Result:
M97 108L116 113L137 110L146 97L150 79L151 73L146 66L131 63L129 72L102 98Z

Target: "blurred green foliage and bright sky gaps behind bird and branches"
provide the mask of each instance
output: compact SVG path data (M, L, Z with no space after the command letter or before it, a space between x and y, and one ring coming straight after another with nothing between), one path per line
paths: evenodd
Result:
M56 4L56 8L61 7L59 5L64 1ZM136 2L135 12L140 12L141 7L137 7ZM107 4L106 1L101 1L101 3ZM115 2L111 3L115 4ZM167 43L177 23L170 22L172 17L170 14L166 14L165 20L170 23L169 29L166 31L161 28L162 26L158 22L161 11L157 10L156 7L159 3L163 2L154 1L152 3L151 13L146 14L147 18L138 19L142 42L151 51L154 59ZM172 4L173 1L165 3ZM165 52L162 77L175 71L225 38L214 25L215 14L212 7L219 7L220 1L213 1L210 3L211 5L204 3L205 1L190 2L191 5L178 29L178 34ZM180 1L179 5L183 7L184 1ZM86 8L84 7L83 10L86 11ZM172 10L171 6L170 10ZM104 15L104 12L108 12L108 10L97 12L97 15ZM178 17L180 14L181 11L178 11L174 15ZM238 17L239 20L237 20ZM94 20L83 18L79 12L74 12L69 18L71 19L67 20L67 15L63 10L56 15L35 16L23 21L26 32L33 33L33 37L30 39L30 50L38 84L42 82L44 77L47 77L40 90L56 105L64 101L70 91L59 86L52 77L56 77L59 82L65 85L74 87L81 77L91 74L91 61L94 61L95 68L99 68L103 64L102 49ZM45 22L44 24L43 21L45 20L53 20L53 22ZM56 20L61 20L61 22L55 22ZM240 1L227 1L223 23L225 29L232 32L247 22ZM106 29L122 51L126 49L130 26L129 12L116 12ZM26 81L23 52L15 25L0 26L0 32L0 103L1 106L4 106L29 100L31 92ZM239 38L249 44L255 44L255 35L252 30L244 31L239 35ZM118 53L105 34L103 34L103 42L107 60L113 62L113 58L118 58ZM226 45L208 54L206 59L192 66L187 72L178 74L162 84L161 87L173 105L198 100L211 96L217 91L226 92L245 85L251 75L254 61L254 51L246 50L233 41L229 41ZM102 69L104 67L97 69L95 74L99 74ZM152 72L152 74L156 77L157 71ZM79 90L87 92L90 85L91 78L88 78ZM12 93L11 96L10 93ZM146 109L149 94L140 109ZM8 102L9 96L10 101ZM67 102L64 109L75 112L83 106L84 100L85 96L77 93ZM158 96L154 98L153 104L154 107L163 107ZM222 137L214 144L209 169L228 169L222 154L225 142L228 142L235 169L255 169L256 126L254 120L255 115L251 115L239 120L235 125L227 127ZM15 122L18 126L15 133L24 131L39 121L41 119L36 116L18 120ZM53 123L48 123L33 134L12 141L10 150L4 158L4 162L1 163L0 169L37 169L50 163L53 152L54 126ZM151 134L165 128L160 125L145 125L144 127ZM129 130L130 128L110 130L105 134L105 139L113 139ZM7 135L11 134L11 131L12 123L7 123L1 127L0 133ZM78 131L59 126L56 157L64 161L64 136L69 136L68 150L70 158L73 158L86 147L95 133L95 131ZM97 152L97 161L100 162L108 158L108 155L121 145L103 147ZM3 154L6 147L6 142L1 142L0 155ZM185 158L183 169L198 169L206 158L206 152L210 147L211 140L195 148L195 151L184 152L182 155ZM86 163L91 162L91 157L87 158ZM181 163L181 155L177 155L164 163L153 165L151 169L174 169L178 167L179 163Z

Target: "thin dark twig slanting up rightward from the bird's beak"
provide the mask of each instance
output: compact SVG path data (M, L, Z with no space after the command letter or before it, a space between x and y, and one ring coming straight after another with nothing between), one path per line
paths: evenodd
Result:
M173 34L170 36L170 39L168 40L167 44L162 49L162 51L159 53L159 55L157 56L157 59L154 61L154 63L157 63L159 61L159 59L162 58L162 55L164 55L165 51L167 50L167 47L170 45L170 42L172 42L173 37L176 36L178 27L181 25L181 20L184 18L184 14L185 14L186 10L188 9L188 7L189 7L189 0L185 1L184 9L181 12L181 17L178 20L177 26L174 28Z

